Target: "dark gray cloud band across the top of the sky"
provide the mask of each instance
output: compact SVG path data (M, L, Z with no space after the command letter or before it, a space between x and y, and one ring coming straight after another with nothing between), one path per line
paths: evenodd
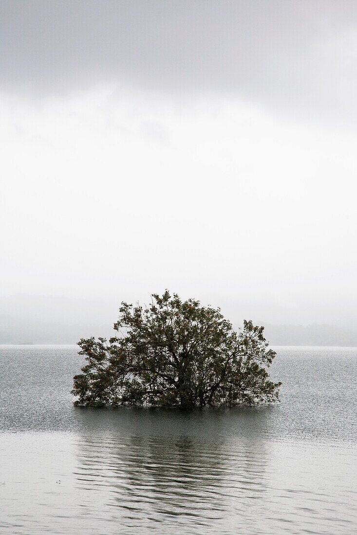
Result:
M3 89L109 82L355 118L355 2L3 0L0 32Z

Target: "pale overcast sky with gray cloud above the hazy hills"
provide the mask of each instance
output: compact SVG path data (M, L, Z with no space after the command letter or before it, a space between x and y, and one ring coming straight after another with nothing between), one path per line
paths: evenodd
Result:
M2 0L0 34L2 303L357 327L355 1Z

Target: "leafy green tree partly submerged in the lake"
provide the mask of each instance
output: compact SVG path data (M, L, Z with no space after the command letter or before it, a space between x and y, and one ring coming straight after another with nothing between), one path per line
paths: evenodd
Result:
M166 291L148 307L122 303L117 335L81 339L87 363L74 377L76 406L234 406L279 400L267 368L264 327L244 320L239 333L220 309Z

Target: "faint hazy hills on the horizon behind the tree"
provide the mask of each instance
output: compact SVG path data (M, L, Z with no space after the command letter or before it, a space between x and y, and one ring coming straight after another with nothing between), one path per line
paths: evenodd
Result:
M92 335L110 337L118 303L25 295L0 297L0 343L76 343ZM240 316L228 317L236 328L241 325ZM357 346L357 331L336 325L274 324L260 315L251 319L265 325L271 345Z

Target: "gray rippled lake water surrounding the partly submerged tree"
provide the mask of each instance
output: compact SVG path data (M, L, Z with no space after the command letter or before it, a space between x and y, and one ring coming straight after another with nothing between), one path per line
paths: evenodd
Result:
M193 411L72 407L76 350L0 346L4 535L357 532L356 348L277 348L280 404Z

